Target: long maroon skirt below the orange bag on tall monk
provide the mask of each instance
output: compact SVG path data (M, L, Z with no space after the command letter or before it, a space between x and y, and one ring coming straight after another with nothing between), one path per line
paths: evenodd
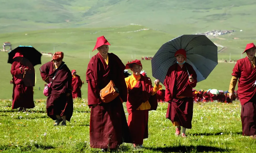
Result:
M90 147L114 149L123 142L131 143L131 139L120 98L91 108Z

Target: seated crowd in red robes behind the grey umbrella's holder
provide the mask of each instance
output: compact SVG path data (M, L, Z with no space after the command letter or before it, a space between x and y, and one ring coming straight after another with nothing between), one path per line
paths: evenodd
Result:
M216 89L215 89L216 90ZM232 103L233 100L239 100L237 96L237 92L234 91L233 99L229 98L228 91L222 91L218 90L218 92L211 93L211 89L208 89L207 91L204 91L203 89L196 91L196 89L193 89L193 98L194 103L198 102L213 102L213 101L219 101L223 103ZM160 89L157 92L157 101L158 102L165 102L165 90Z

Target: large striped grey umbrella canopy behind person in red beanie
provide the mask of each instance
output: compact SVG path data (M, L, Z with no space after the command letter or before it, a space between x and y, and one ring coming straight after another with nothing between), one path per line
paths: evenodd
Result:
M218 64L218 48L209 38L182 35L163 44L151 61L152 76L161 83L164 83L170 66L177 62L174 54L179 49L186 50L186 62L194 68L198 82L206 79Z

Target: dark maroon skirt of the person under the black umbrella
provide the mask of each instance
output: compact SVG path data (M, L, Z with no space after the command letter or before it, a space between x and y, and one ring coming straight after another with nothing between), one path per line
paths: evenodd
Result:
M23 82L13 85L12 109L19 107L35 107L33 100L33 87L26 87Z

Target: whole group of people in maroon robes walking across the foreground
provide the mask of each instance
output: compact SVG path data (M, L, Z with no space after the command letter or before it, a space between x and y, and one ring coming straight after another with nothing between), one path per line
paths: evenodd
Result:
M134 147L142 147L143 139L148 137L148 112L156 110L157 92L161 89L160 81L154 85L148 77L140 74L140 60L128 62L126 66L120 58L109 53L110 43L104 36L97 38L94 50L98 53L90 59L86 71L88 83L88 106L90 112L90 147L101 148L102 151L116 149L123 142L132 143ZM94 51L93 50L93 51ZM238 60L233 69L230 83L230 99L234 95L234 87L238 81L238 97L242 104L243 135L256 135L256 60L255 45L246 46L247 56ZM20 61L12 64L11 73L14 78L13 109L18 107L34 107L32 87L33 80L22 77L34 73L33 66L25 64L26 60L18 55ZM186 129L192 128L193 101L192 88L196 87L197 74L188 64L186 50L179 49L175 55L176 63L170 66L164 80L165 101L168 109L166 118L176 126L176 135L186 137ZM40 67L42 79L50 84L50 95L47 98L47 115L56 120L54 125L66 125L73 113L72 92L82 86L76 71L70 72L62 61L63 52L56 52L52 61ZM23 59L23 60L22 60ZM124 70L130 69L132 75L124 77ZM32 76L33 77L33 76ZM76 81L72 81L72 79ZM74 88L74 84L76 87ZM80 96L77 94L77 96ZM26 101L26 106L19 105ZM18 102L18 103L16 103ZM128 121L122 103L126 102ZM181 128L182 127L182 128Z

